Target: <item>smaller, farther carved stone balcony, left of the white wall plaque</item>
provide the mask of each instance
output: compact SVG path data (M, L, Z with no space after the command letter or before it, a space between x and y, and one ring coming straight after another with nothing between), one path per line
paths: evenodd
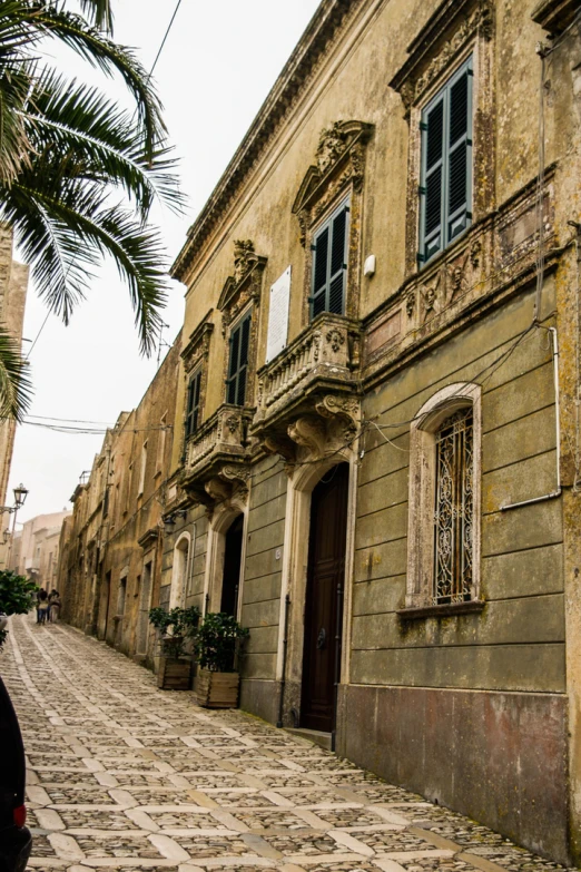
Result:
M225 500L246 487L252 415L247 409L225 403L188 439L179 484L197 502Z

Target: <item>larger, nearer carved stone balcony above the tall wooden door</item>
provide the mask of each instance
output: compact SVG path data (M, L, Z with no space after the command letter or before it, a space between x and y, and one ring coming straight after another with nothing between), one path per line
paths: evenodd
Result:
M358 322L324 312L258 373L258 408L250 435L290 460L299 430L319 431L322 419L358 419ZM324 434L322 433L322 437ZM319 440L321 441L321 440ZM325 439L323 439L325 442ZM323 451L323 442L321 450Z

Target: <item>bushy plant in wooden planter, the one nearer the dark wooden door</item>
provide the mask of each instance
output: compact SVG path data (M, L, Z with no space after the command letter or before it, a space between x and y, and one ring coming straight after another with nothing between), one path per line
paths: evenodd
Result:
M194 650L200 670L196 694L207 708L236 708L240 676L236 657L249 630L225 613L206 615L198 629Z

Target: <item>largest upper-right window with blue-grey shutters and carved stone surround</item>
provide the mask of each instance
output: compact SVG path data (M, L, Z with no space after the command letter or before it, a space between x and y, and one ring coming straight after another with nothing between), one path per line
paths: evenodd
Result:
M443 0L407 47L408 57L390 82L402 97L410 123L407 275L451 247L464 231L470 231L494 208L494 35L493 0ZM459 96L462 81L454 84L459 77L467 82L465 107ZM435 116L442 106L444 137L449 129L457 133L454 118L462 116L464 140L459 145L462 155L455 154L457 144L452 150L450 143L450 154L446 151L443 163L440 161L446 172L442 176L439 210L437 203L435 206L432 203L431 209L426 203L434 194L430 183L432 187L439 183L437 175L430 177L429 155L434 172L442 172L437 149L430 148L427 140L430 133L437 138ZM432 125L431 116L434 116ZM473 186L472 178L479 179L479 184ZM456 188L462 190L459 193ZM462 206L456 224L447 223L449 217L457 218L452 204L453 215L449 216L442 208L446 197L455 197ZM459 205L455 199L454 204L454 207ZM432 232L436 234L434 238Z

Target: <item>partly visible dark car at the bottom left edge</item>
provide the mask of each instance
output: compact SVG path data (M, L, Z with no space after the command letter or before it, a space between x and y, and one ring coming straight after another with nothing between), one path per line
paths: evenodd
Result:
M0 678L0 872L24 872L32 849L26 826L26 763L14 707Z

